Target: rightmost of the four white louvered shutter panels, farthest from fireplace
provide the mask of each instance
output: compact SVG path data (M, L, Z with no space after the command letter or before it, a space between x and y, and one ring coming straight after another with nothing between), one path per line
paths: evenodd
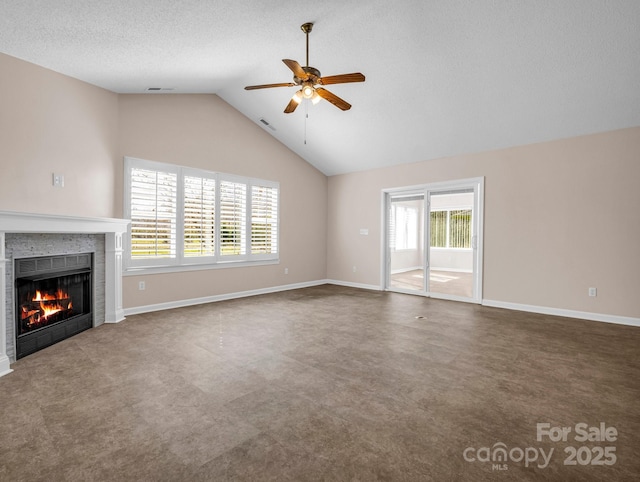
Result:
M251 186L251 254L278 252L278 189Z

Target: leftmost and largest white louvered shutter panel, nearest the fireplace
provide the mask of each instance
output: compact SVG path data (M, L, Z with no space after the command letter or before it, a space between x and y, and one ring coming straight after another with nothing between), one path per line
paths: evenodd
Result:
M131 169L131 258L175 258L178 176Z

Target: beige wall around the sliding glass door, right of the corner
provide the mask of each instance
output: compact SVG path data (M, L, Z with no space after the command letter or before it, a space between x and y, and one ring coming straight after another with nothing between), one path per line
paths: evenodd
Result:
M640 128L330 177L327 277L380 285L382 189L478 176L484 299L640 317Z

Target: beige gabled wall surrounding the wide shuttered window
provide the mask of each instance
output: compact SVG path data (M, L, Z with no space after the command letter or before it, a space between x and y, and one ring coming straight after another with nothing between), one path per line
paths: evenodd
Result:
M326 278L327 178L262 128L214 95L149 94L119 96L118 126L120 159L280 183L279 265L127 276L126 308ZM117 176L122 178L122 161ZM142 280L146 290L138 291Z

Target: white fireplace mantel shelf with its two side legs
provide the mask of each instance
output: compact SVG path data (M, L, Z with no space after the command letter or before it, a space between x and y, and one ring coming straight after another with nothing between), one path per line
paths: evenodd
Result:
M6 353L7 319L5 313L7 286L5 256L7 233L77 233L105 235L105 323L124 320L122 307L122 235L130 221L115 218L86 218L52 214L0 211L0 377L10 373Z

